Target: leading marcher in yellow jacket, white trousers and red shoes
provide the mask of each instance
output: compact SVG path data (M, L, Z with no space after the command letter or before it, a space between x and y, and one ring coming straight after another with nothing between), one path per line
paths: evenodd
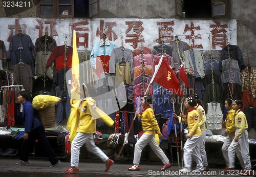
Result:
M95 145L93 134L96 131L96 119L103 121L108 126L114 126L114 121L96 106L96 101L91 97L84 98L80 103L80 119L78 132L71 144L71 167L66 173L79 172L79 152L80 147L85 144L87 150L96 154L103 162L106 163L105 172L110 169L114 163L109 159L100 148Z

